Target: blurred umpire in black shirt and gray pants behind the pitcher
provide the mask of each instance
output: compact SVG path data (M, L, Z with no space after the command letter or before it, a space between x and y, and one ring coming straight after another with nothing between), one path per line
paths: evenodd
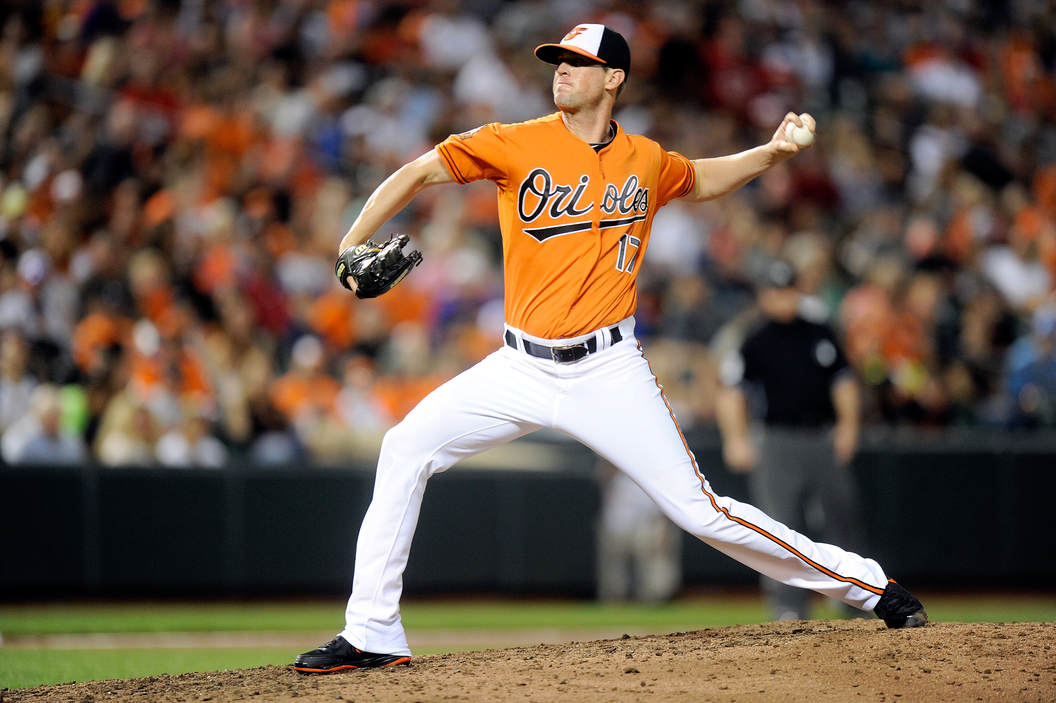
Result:
M752 502L767 515L859 551L857 492L848 468L859 440L857 381L832 331L799 316L789 263L767 267L757 300L761 322L740 354L720 365L716 418L723 458L734 471L752 471ZM749 405L766 408L758 451L749 433ZM810 591L767 577L762 589L775 619L809 617Z

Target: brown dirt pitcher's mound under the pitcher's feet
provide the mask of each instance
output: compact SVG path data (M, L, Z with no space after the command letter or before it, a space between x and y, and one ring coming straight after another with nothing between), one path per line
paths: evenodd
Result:
M3 703L212 701L1053 701L1056 624L799 621L667 636L415 658L411 666L290 667L61 684Z

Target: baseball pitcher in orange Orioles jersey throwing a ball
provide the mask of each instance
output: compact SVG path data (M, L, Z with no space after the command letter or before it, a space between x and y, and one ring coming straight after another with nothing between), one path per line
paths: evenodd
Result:
M564 432L629 476L680 528L784 584L812 589L888 627L927 623L920 600L872 559L815 543L761 511L716 495L686 446L635 338L635 279L658 208L733 192L802 148L786 127L768 144L691 161L612 122L630 69L624 38L580 24L535 56L557 67L559 112L455 134L393 173L341 242L336 273L360 297L396 285L420 260L407 239L370 242L425 188L488 179L498 186L506 277L505 345L437 388L385 434L374 499L356 544L346 626L297 658L328 672L411 661L399 598L429 478L543 427ZM809 142L809 140L808 140Z

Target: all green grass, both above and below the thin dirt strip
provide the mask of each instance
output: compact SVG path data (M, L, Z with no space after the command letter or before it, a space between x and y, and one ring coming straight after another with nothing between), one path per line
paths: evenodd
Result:
M924 594L928 614L943 622L1056 621L1056 597L1044 595ZM818 600L815 617L835 616ZM343 600L262 603L132 603L0 606L0 634L205 632L341 629ZM689 597L662 606L601 605L584 600L410 600L409 629L640 628L674 632L761 623L763 602L748 595ZM465 649L465 648L464 648ZM471 648L472 649L472 648ZM479 649L479 647L477 647ZM416 648L415 653L444 651ZM268 649L29 650L0 647L0 688L63 681L124 679L288 664L297 654Z

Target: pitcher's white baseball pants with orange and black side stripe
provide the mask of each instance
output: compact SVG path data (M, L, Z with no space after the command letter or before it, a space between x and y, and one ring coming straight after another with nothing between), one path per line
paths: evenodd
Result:
M652 498L675 522L723 554L784 584L808 588L863 610L887 585L872 559L819 544L762 511L716 496L685 444L641 348L635 320L623 339L576 364L504 346L430 393L385 434L374 499L356 543L356 572L341 635L370 652L410 654L399 598L426 482L463 459L543 427L587 445Z

